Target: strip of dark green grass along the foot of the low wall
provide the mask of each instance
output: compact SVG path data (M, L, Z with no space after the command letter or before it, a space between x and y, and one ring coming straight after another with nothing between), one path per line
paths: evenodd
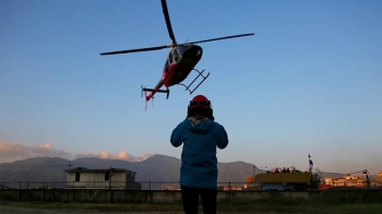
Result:
M75 210L84 212L182 212L178 204L124 204L124 203L59 203L59 202L0 202L2 206L43 210ZM258 201L255 203L219 203L224 213L296 213L296 214L381 214L382 203L322 204L306 203L303 200ZM202 207L200 206L200 210Z

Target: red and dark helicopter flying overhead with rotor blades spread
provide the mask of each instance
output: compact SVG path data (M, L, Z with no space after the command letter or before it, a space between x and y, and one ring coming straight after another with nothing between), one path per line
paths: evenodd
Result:
M198 62L202 59L203 49L202 47L194 45L194 44L201 44L206 41L214 41L214 40L220 40L220 39L228 39L228 38L236 38L236 37L243 37L243 36L252 36L254 33L250 34L240 34L240 35L234 35L234 36L226 36L226 37L218 37L218 38L212 38L206 40L199 40L199 41L192 41L192 43L184 43L184 44L178 44L172 26L170 22L170 17L168 14L167 3L166 0L162 0L162 8L163 13L165 15L166 25L168 29L168 34L170 39L172 40L171 45L164 45L164 46L156 46L156 47L148 47L148 48L139 48L139 49L129 49L129 50L118 50L118 51L110 51L110 52L102 52L102 56L106 55L120 55L120 54L130 54L130 52L141 52L141 51L152 51L152 50L160 50L164 48L171 48L169 51L165 67L163 69L163 74L159 80L159 82L156 84L154 88L146 88L142 86L142 96L143 92L145 93L146 103L154 98L155 93L166 93L167 99L169 97L169 87L172 85L183 85L186 87L186 91L189 91L190 94L192 94L210 75L207 73L206 75L203 75L203 71L198 71L194 69L194 67L198 64ZM189 84L184 85L182 82L187 79L187 76L191 73L191 71L195 71L199 74L195 76L195 79ZM202 78L202 81L191 88L191 85L199 79ZM162 90L162 87L165 85L166 90ZM148 95L146 92L151 92Z

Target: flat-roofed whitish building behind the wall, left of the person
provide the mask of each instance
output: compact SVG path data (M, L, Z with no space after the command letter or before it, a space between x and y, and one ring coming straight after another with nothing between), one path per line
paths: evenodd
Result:
M140 190L141 183L135 182L135 171L120 168L87 169L77 167L64 170L67 188L82 189L129 189Z

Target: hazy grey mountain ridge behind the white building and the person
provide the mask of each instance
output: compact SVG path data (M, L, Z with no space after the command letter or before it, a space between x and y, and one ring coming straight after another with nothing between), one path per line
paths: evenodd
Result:
M100 159L83 157L67 160L57 157L36 157L0 164L0 181L65 181L65 169L86 167L89 169L124 168L136 173L136 181L174 182L179 180L180 159L166 155L154 155L142 162ZM218 182L244 182L253 175L253 164L244 162L218 163ZM263 170L255 169L255 174Z

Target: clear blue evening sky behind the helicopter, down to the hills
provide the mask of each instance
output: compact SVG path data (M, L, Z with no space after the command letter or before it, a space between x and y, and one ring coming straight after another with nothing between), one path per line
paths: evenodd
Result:
M229 144L219 162L262 169L382 170L382 2L167 1L179 44L208 79L147 104L171 44L159 0L0 1L0 163L36 156L180 158L174 128L205 95ZM190 83L191 73L184 83Z

